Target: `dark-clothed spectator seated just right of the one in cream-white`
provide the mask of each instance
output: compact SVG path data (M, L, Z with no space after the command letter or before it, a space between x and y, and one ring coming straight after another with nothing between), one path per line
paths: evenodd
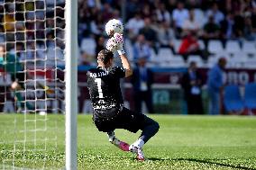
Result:
M214 17L210 16L208 22L204 26L204 32L202 35L202 39L206 44L206 49L208 47L209 40L216 40L220 38L220 27L215 23Z

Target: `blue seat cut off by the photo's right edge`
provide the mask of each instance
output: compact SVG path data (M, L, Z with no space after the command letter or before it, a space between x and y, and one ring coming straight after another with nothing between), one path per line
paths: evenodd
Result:
M256 109L256 83L245 85L244 104L247 109Z

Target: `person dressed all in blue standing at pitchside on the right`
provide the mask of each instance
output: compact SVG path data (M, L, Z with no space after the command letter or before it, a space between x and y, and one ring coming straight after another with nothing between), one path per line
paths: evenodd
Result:
M223 71L226 62L225 58L219 58L218 63L208 73L209 114L220 113L220 94L224 89Z

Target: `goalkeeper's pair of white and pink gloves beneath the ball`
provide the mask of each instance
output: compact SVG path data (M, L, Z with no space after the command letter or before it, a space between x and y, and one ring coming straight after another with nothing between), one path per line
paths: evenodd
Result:
M119 55L125 53L123 49L123 35L120 33L114 33L114 36L107 40L106 49L112 51L113 53L117 51Z

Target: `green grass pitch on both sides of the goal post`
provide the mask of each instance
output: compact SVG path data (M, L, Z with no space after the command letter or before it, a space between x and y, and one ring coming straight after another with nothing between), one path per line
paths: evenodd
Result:
M143 148L148 160L138 162L132 153L114 148L91 115L78 115L78 169L256 169L256 117L150 116L159 121L160 131ZM35 119L0 115L0 169L63 169L64 116L26 116ZM140 135L115 133L128 143Z

